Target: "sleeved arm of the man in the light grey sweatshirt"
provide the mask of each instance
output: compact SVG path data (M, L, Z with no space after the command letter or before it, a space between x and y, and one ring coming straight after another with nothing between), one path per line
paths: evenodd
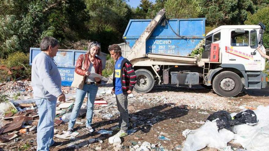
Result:
M47 58L38 58L36 60L36 67L39 75L39 79L43 87L55 97L59 97L63 92L61 88L55 84L52 77L50 76L50 61Z

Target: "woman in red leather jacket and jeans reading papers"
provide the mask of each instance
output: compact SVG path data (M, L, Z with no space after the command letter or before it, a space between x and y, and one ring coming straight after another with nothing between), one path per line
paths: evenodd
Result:
M88 94L86 128L90 133L94 131L94 129L91 127L91 122L94 110L94 100L97 94L98 84L101 83L101 79L98 77L92 78L90 77L90 74L96 73L102 75L102 61L100 58L95 56L100 55L100 51L100 44L93 41L88 46L86 54L81 54L77 60L75 72L79 75L85 76L85 83L83 89L76 89L76 101L70 116L67 134L71 134L73 131L76 118L78 117L79 110L82 106L86 93ZM84 65L82 65L84 57L85 61ZM82 69L82 66L85 70Z

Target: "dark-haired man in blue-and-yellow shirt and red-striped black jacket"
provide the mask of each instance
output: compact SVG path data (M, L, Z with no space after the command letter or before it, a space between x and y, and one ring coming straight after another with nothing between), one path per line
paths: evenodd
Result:
M115 69L113 74L113 89L112 94L115 93L117 107L120 112L119 126L113 129L120 129L116 136L124 137L127 134L129 123L128 94L131 94L136 83L135 70L132 64L126 58L121 56L120 46L113 44L109 46L109 53L111 58L115 60Z

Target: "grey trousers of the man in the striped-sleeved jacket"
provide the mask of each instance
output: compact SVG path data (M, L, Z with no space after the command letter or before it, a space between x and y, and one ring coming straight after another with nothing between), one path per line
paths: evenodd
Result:
M120 112L119 127L121 130L127 131L129 124L128 93L116 95L117 107Z

